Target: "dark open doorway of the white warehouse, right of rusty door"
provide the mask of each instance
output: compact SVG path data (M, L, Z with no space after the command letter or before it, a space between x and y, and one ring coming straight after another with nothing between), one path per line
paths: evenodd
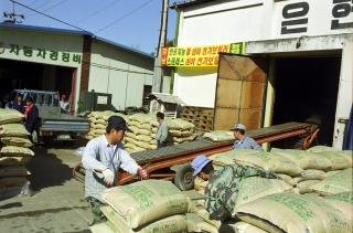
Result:
M318 124L318 142L332 146L340 68L341 54L275 59L272 125Z

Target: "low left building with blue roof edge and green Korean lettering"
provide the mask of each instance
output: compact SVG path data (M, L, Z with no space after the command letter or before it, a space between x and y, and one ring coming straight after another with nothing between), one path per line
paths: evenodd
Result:
M141 107L151 93L153 61L89 32L0 23L0 96L15 88L58 91L77 109L82 93L94 89L113 94L117 110Z

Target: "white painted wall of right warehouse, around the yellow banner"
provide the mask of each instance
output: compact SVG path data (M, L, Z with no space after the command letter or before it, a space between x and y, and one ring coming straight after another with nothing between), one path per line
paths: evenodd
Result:
M309 6L309 11L302 17L286 19L284 17L284 9L300 2ZM352 1L349 0L342 4L353 7ZM353 12L350 12L346 17L334 18L332 13L334 8L338 9L333 1L322 0L286 0L279 2L275 2L274 0L238 0L194 6L181 12L178 46L212 45L239 41L248 42L289 38L298 39L302 35L317 36L352 33L353 28L331 29L332 21L334 20L339 20L340 23L353 23ZM292 15L302 9L303 8L289 10L288 12ZM288 18L288 15L286 17ZM308 23L288 28L290 30L306 28L306 32L281 33L282 23L289 20L306 19L308 19ZM320 50L321 46L320 44L315 44L313 50ZM246 49L246 51L248 50ZM293 46L290 47L290 51L297 52L298 50ZM267 51L263 47L261 53L267 53ZM197 82L195 82L196 76L199 77ZM213 107L215 80L215 70L210 71L207 74L203 73L202 75L197 72L188 75L184 75L182 72L176 72L173 93L180 96L188 105ZM201 87L202 92L199 92L197 89ZM195 95L196 91L197 94Z

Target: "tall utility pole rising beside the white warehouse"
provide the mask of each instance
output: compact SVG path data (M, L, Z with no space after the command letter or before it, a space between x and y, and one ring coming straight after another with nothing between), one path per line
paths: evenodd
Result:
M154 76L152 85L153 93L161 93L163 91L163 68L161 66L161 49L165 46L167 42L168 7L169 0L162 0L161 25L157 49L158 51L157 56L154 59Z

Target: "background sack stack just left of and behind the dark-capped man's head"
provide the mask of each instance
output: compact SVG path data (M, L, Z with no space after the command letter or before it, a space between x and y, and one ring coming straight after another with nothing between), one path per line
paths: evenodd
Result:
M90 112L90 114L88 115L89 131L88 131L86 138L90 140L93 138L105 135L106 128L108 125L108 118L113 115L121 116L125 119L127 119L126 115L120 114L120 113L114 113L111 110Z

